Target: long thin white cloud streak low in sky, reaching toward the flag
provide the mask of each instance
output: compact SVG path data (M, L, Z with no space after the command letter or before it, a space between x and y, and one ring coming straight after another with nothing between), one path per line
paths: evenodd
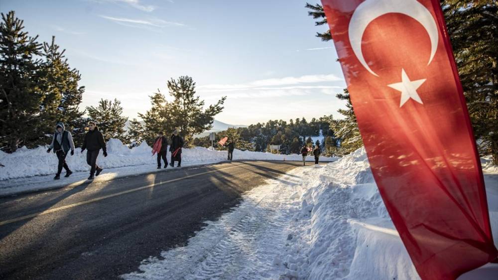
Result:
M284 86L284 85L297 85L304 83L323 83L323 82L337 82L342 81L341 78L329 74L329 75L304 75L300 77L284 77L278 79L264 79L257 80L247 84L214 84L214 85L204 85L200 86L200 89L212 89L212 90L236 90L236 89L250 89L257 87L271 87L271 86Z

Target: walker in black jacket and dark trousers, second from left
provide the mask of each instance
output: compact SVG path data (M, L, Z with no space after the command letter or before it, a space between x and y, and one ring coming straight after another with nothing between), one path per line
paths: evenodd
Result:
M85 134L85 141L83 142L83 147L81 147L81 152L87 150L87 164L91 166L90 177L88 180L93 180L94 175L99 176L102 172L102 168L97 165L97 157L99 156L100 149L102 149L104 157L107 157L106 141L104 136L99 131L99 128L95 122L88 122L88 132Z

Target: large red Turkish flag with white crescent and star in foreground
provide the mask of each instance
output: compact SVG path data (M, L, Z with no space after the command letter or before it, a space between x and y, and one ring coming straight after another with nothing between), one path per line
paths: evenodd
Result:
M469 114L437 0L322 0L375 182L418 274L497 258Z

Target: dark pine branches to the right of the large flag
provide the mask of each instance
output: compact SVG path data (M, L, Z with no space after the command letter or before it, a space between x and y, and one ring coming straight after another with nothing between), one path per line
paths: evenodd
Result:
M498 164L498 2L441 3L479 150Z

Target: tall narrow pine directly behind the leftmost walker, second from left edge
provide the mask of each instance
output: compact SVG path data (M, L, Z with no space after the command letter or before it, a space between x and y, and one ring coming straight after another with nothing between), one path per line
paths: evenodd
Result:
M71 69L64 56L65 51L59 50L54 36L52 36L51 44L43 43L46 58L43 66L46 75L44 91L55 95L54 101L58 101L57 110L50 115L49 123L54 125L55 121L63 122L66 129L72 132L75 145L78 146L83 143L84 128L87 122L87 119L83 117L85 111L80 111L79 108L85 87L78 86L81 75L78 70Z

